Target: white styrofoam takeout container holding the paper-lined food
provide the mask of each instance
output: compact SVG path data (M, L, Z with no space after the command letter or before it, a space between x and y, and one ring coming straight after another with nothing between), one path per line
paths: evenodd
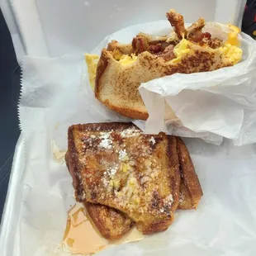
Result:
M105 36L123 27L163 20L174 8L186 22L231 22L240 26L246 0L0 0L21 63L25 55L57 57L92 50ZM0 255L20 256L18 214L26 188L21 177L26 159L22 135L17 143L7 201L2 216ZM23 238L24 239L24 238Z

